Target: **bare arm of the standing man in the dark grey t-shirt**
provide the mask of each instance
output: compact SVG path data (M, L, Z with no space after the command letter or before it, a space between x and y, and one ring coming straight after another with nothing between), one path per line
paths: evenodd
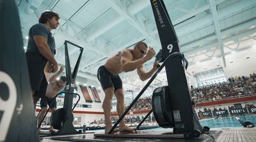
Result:
M44 36L39 36L39 35L33 36L33 39L42 56L44 56L51 64L53 64L52 73L55 73L58 70L58 63L56 62L56 60L54 59L54 56L52 55L50 47L47 44L47 39Z

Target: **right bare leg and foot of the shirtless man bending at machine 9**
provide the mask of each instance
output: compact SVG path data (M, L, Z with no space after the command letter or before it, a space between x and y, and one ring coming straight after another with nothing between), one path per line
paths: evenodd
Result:
M124 106L124 90L123 89L118 89L115 91L115 96L117 100L116 104L116 111L118 113L118 117L121 117L122 114L124 113L125 106ZM120 132L130 132L134 131L134 128L127 127L124 123L124 118L120 122Z

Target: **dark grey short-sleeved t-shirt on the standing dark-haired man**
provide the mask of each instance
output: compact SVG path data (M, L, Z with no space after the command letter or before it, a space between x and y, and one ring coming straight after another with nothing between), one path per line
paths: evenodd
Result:
M51 31L44 25L44 24L35 24L29 29L28 34L28 48L27 52L39 52L35 40L33 39L33 36L44 36L44 38L47 38L47 43L51 48L52 55L55 54L55 41L54 37L52 36Z

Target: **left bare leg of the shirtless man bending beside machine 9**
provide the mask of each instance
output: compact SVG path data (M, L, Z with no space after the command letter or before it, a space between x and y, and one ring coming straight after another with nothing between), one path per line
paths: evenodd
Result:
M111 106L112 106L112 97L114 94L114 88L110 87L104 90L104 92L105 92L105 97L102 103L102 108L103 108L104 117L105 117L105 133L108 133L112 128L110 115L111 115Z

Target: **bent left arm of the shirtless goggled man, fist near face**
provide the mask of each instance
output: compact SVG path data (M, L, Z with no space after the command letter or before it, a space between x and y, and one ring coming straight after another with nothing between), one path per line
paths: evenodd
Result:
M133 71L134 69L137 69L142 64L147 62L147 58L142 57L141 59L132 61L132 54L129 52L129 50L124 50L121 53L121 66L122 70L125 72Z

